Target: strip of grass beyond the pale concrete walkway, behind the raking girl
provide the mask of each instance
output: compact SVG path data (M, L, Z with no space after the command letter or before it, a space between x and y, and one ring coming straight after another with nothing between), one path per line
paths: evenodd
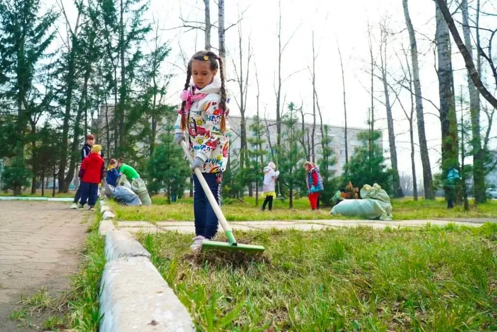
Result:
M294 208L288 209L287 201L276 200L273 211L260 211L255 206L254 198L245 198L245 202L227 200L222 209L228 221L260 221L260 220L326 220L357 219L357 217L331 216L330 208L311 211L306 198L295 200ZM164 197L153 198L153 206L123 207L113 204L117 219L126 221L193 221L192 200L189 198L170 205ZM461 206L447 210L443 199L436 201L413 201L412 199L392 200L394 220L436 219L436 218L496 218L497 200L482 205L470 206L464 212Z

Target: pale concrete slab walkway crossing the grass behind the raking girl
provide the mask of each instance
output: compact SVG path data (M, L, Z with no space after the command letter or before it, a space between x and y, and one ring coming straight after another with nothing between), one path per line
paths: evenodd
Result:
M230 225L237 230L262 230L262 229L300 229L317 230L328 227L355 227L370 226L373 228L390 227L420 227L427 223L443 226L448 223L477 227L487 222L487 219L472 219L467 221L449 220L404 220L404 221L371 221L371 220L292 220L292 221L232 221ZM110 222L110 221L109 221ZM492 222L492 221L491 221ZM495 222L495 221L494 221ZM117 228L130 232L145 231L158 232L175 230L184 233L194 233L193 221L160 221L151 223L147 221L117 221Z

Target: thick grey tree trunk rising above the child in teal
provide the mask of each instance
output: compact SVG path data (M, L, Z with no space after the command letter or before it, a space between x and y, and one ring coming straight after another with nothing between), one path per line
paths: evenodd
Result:
M438 91L442 131L442 175L445 178L450 168L459 168L459 153L450 34L438 4L436 4L436 24L435 40L438 51Z

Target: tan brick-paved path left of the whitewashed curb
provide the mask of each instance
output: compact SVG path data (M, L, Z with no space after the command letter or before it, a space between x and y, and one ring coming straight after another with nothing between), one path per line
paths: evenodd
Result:
M69 287L86 236L87 212L52 202L0 202L0 331L16 328L8 315L21 295L45 287L51 296Z

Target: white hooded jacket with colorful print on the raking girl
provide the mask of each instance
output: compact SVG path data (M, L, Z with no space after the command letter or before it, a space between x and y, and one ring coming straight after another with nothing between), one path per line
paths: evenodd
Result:
M226 105L226 130L221 133L221 80L214 78L211 84L201 90L190 86L193 95L205 94L201 100L194 101L186 113L187 130L184 132L187 145L194 157L205 160L203 173L224 172L228 163L230 125L228 123L229 107ZM174 125L174 132L181 130L181 114ZM188 144L189 143L189 144Z

